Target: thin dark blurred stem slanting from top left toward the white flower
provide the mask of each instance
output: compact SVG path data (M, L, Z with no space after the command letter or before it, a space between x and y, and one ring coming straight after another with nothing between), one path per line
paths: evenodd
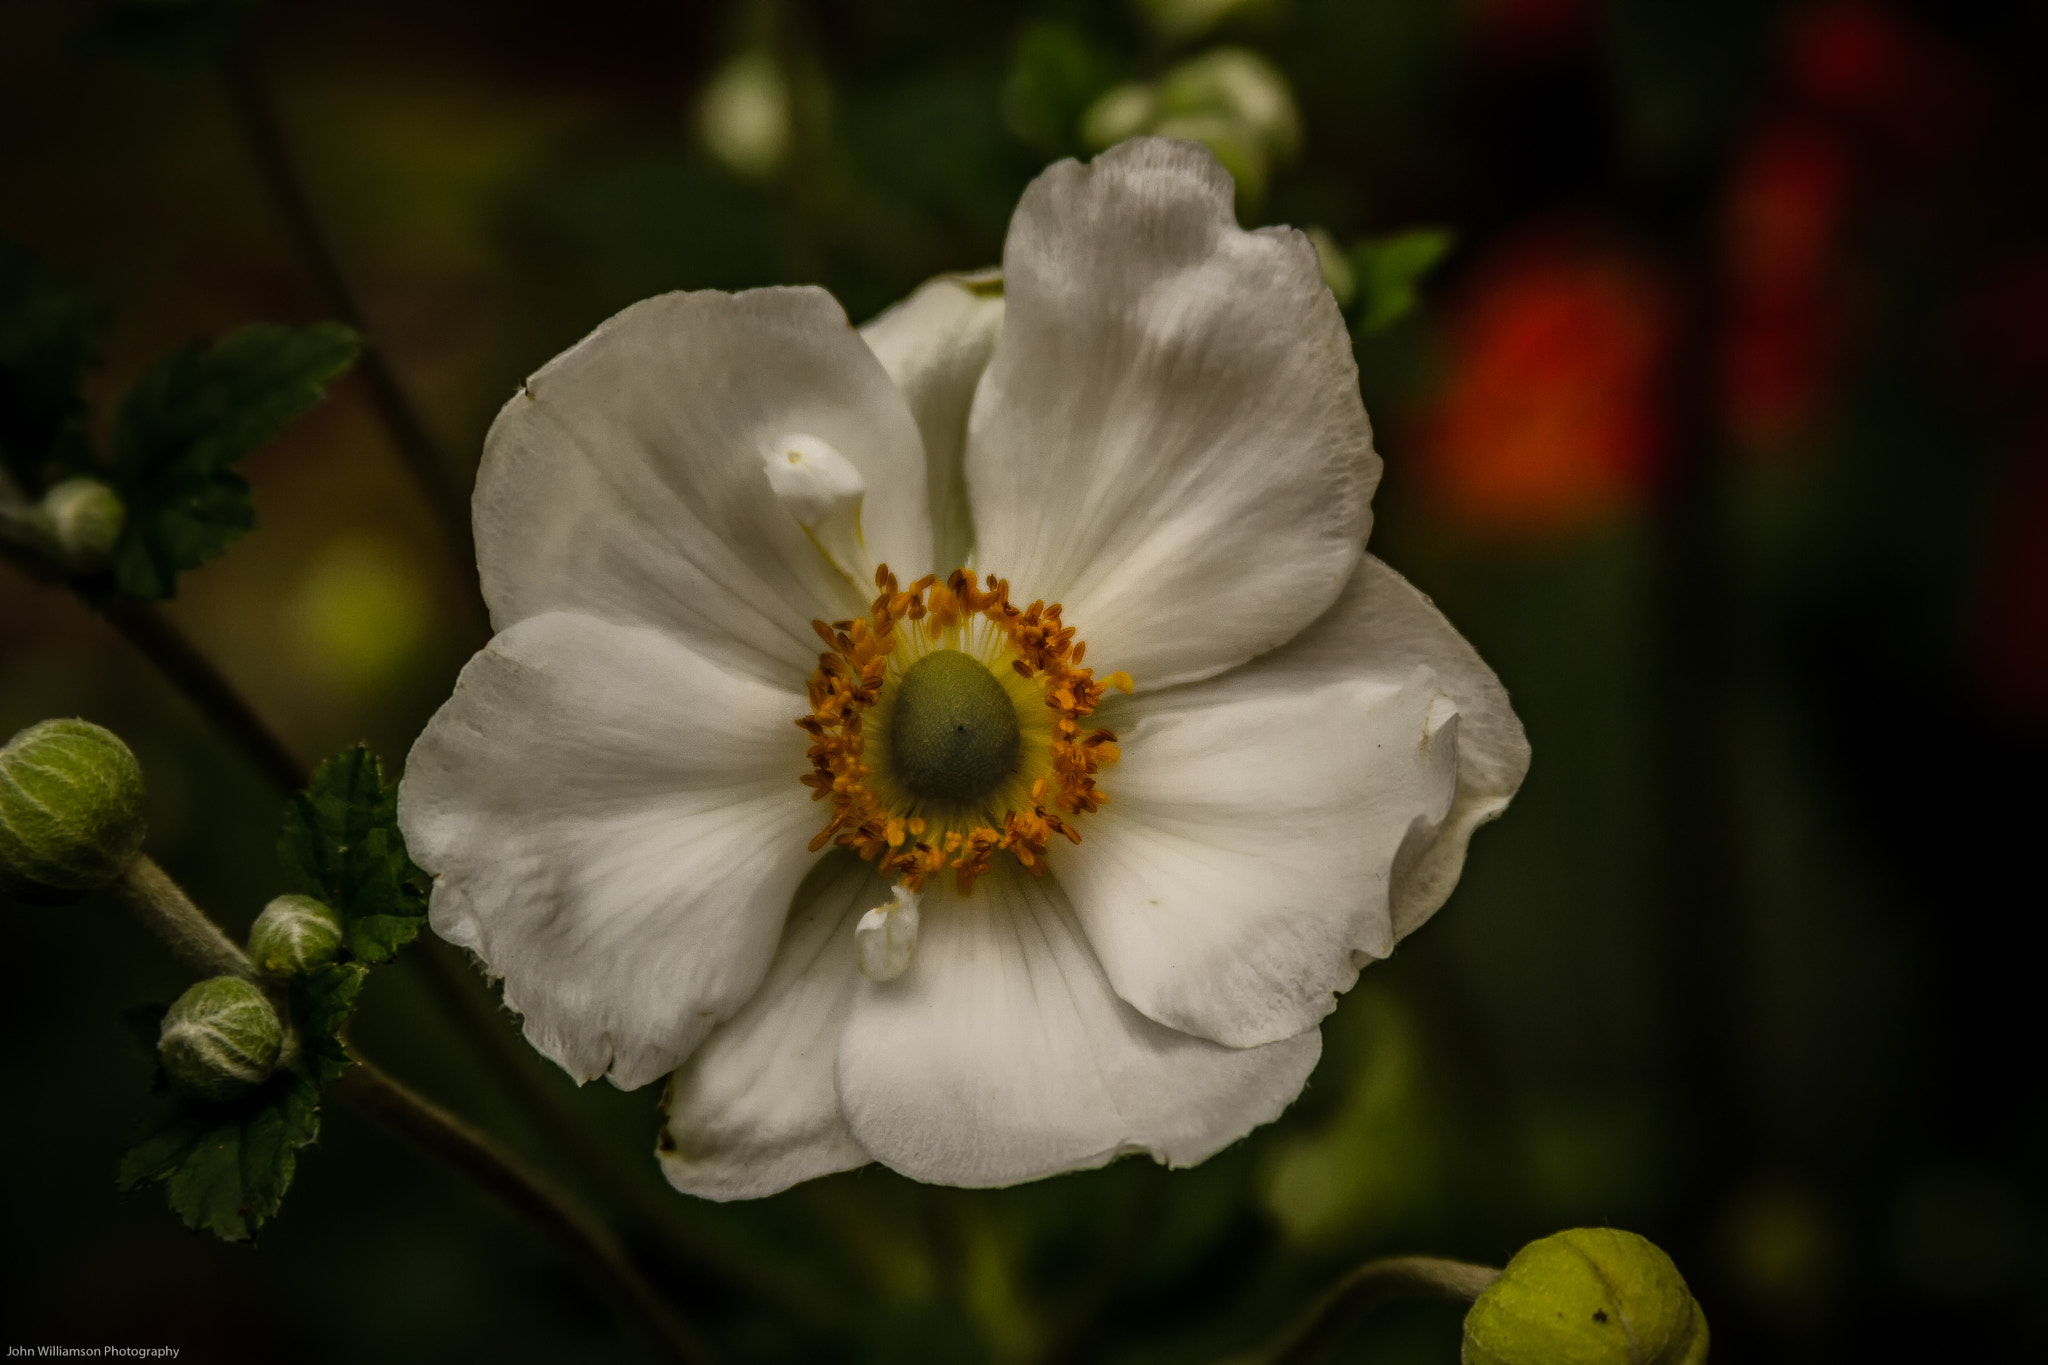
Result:
M270 90L256 70L256 59L248 43L238 43L227 53L221 63L221 78L227 86L227 100L233 106L236 123L242 127L242 137L248 141L250 156L256 162L256 176L285 219L285 227L305 258L307 268L311 268L322 307L362 336L362 358L356 362L356 370L362 375L362 387L369 391L371 409L383 422L385 432L391 436L391 446L420 487L420 495L426 497L434 518L442 524L455 559L467 571L475 561L475 544L469 532L469 497L449 473L449 463L428 434L426 422L420 420L420 411L406 395L397 375L391 370L391 362L362 319L362 305L356 303L356 295L348 287L348 276L342 274L340 260L334 256L334 248L328 244L328 235L313 215L305 182L299 180L291 151L285 147L276 106L270 102Z

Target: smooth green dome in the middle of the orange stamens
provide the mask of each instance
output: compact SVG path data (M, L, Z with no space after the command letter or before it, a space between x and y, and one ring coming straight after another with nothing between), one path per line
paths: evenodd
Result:
M981 800L1018 767L1016 704L979 661L930 653L897 686L889 755L911 796Z

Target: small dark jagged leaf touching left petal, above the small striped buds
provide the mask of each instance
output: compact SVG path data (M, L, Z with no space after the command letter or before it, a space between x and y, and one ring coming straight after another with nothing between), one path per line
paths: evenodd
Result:
M365 745L322 763L291 798L279 855L297 890L342 917L342 943L362 962L383 962L426 923L426 874L397 831L397 786Z

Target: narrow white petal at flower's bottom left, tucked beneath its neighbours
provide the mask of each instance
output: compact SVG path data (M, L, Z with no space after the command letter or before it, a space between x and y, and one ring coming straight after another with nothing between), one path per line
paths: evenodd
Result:
M854 919L887 894L850 853L799 888L768 980L670 1083L659 1154L676 1189L756 1199L866 1164L831 1070L860 984Z

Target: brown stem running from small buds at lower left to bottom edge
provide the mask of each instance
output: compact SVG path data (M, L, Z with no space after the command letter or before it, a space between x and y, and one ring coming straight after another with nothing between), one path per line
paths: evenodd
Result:
M590 1271L616 1289L641 1316L668 1353L688 1365L711 1365L711 1342L684 1322L655 1293L618 1244L575 1205L549 1189L510 1152L469 1128L440 1105L410 1091L360 1054L334 1089L391 1132L442 1156L485 1191L498 1195L547 1238L573 1252Z

